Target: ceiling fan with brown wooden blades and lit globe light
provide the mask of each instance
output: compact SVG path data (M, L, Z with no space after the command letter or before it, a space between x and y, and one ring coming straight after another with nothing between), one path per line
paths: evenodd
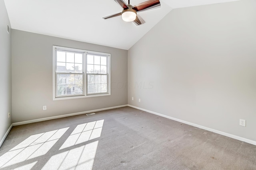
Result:
M124 21L126 22L133 21L137 26L145 23L145 21L140 16L138 17L137 12L150 10L152 8L161 6L159 0L148 0L136 6L130 5L130 0L128 0L128 4L126 4L123 0L114 0L114 1L116 1L123 8L123 11L117 14L112 14L110 16L105 16L103 17L103 19L113 18L121 15Z

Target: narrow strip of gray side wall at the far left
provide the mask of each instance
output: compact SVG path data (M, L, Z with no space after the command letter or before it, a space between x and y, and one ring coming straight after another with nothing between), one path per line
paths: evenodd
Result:
M11 68L11 32L7 32L10 21L4 0L0 0L0 141L12 124L12 68Z

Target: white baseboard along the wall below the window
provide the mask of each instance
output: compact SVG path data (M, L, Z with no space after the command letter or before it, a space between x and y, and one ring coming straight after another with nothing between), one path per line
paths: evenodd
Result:
M102 110L109 110L109 109L115 109L115 108L122 108L128 106L127 104L125 105L121 105L121 106L114 106L114 107L110 107L110 108L102 108L102 109L96 109L96 110L89 110L89 111L85 111L85 112L77 112L77 113L71 113L71 114L64 114L64 115L60 115L60 116L52 116L52 117L47 117L47 118L40 118L40 119L34 119L34 120L27 120L27 121L23 121L23 122L16 122L13 123L13 126L18 126L18 125L22 125L22 124L29 124L29 123L35 123L35 122L42 122L45 120L52 120L52 119L58 119L58 118L65 118L65 117L69 117L69 116L76 116L79 114L87 114L87 113L92 113L92 112L99 112Z

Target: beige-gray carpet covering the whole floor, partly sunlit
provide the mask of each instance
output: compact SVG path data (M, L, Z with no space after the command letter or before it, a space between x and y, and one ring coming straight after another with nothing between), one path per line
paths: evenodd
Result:
M0 170L256 170L256 146L130 107L14 126Z

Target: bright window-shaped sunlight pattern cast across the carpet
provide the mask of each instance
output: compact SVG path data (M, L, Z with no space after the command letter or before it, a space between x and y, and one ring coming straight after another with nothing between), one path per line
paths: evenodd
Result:
M104 120L98 120L77 125L66 140L62 139L63 143L58 143L60 148L54 145L70 127L31 135L0 156L0 170L30 170L44 162L42 156L48 152L53 154L46 155L42 170L92 170L98 140L90 140L101 136L103 124Z

